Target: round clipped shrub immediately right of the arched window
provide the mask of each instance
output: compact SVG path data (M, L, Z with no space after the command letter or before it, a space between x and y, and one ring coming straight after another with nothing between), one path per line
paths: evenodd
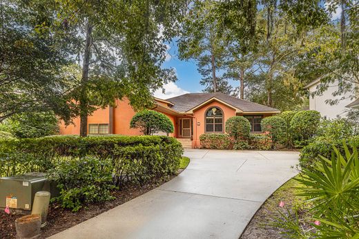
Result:
M243 116L233 116L226 121L226 133L235 140L248 138L251 131L251 123Z

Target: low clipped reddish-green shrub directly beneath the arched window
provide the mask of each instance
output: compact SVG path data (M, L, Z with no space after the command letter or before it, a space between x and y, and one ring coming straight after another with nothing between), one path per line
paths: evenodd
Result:
M233 140L225 133L204 133L200 135L200 144L204 149L232 149Z

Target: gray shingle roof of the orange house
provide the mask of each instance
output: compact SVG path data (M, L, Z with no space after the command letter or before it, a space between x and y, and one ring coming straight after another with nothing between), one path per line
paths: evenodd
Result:
M263 106L262 104L249 102L244 99L239 99L237 97L226 95L224 93L188 93L166 100L174 104L172 108L175 111L186 112L191 110L192 108L195 108L195 106L198 106L203 102L206 102L208 99L211 99L213 97L220 99L223 102L226 102L231 106L234 106L235 108L239 108L244 112L279 111L276 108L271 108L268 106Z

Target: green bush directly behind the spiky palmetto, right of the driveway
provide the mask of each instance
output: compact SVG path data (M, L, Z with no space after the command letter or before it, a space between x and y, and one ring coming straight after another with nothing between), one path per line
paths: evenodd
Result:
M345 142L353 147L359 148L359 136L353 136L345 139ZM318 162L319 155L323 157L331 157L333 152L333 146L335 146L340 152L344 153L342 148L343 140L329 140L321 138L315 140L304 146L300 151L299 165L302 169L313 169Z

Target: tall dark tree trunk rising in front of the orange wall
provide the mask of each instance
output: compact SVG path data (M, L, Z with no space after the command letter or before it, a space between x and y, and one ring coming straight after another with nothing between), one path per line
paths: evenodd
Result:
M87 116L88 116L88 95L87 95L87 84L88 84L88 69L90 65L91 57L91 46L93 44L92 39L93 26L90 23L86 24L86 46L84 51L84 62L82 65L82 76L81 76L81 95L79 97L80 106L80 136L87 136Z

